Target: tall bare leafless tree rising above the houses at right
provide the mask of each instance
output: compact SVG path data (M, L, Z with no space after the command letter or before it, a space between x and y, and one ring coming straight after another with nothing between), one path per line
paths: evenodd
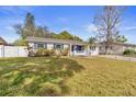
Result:
M109 53L110 45L118 35L118 25L121 24L124 9L124 7L106 5L94 18L98 37L101 42L105 42L105 54Z

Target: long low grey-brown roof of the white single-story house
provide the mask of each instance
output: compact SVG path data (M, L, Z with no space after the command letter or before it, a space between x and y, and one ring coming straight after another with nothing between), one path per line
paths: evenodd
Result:
M61 44L80 44L84 45L84 42L80 41L71 41L71 39L56 39L56 38L43 38L43 37L34 37L34 36L29 36L26 38L27 42L38 42L38 43L61 43Z

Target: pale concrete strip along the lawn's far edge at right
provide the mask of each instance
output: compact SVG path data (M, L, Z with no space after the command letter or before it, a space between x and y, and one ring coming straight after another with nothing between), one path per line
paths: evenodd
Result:
M136 61L136 58L123 57L123 56L118 56L118 55L99 55L99 57L105 57L105 58L112 58L112 59L118 59L118 60L126 60L126 61Z

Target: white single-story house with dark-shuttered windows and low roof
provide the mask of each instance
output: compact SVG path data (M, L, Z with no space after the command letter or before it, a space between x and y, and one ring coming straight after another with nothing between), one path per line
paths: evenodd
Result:
M33 36L29 36L26 41L29 43L29 47L33 50L37 50L38 48L54 49L55 52L68 49L69 56L99 55L99 47L90 47L86 42Z

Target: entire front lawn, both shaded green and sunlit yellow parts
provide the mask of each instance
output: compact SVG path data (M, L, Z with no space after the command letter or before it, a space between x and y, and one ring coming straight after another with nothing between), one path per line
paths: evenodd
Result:
M136 95L136 63L98 57L0 59L0 95Z

